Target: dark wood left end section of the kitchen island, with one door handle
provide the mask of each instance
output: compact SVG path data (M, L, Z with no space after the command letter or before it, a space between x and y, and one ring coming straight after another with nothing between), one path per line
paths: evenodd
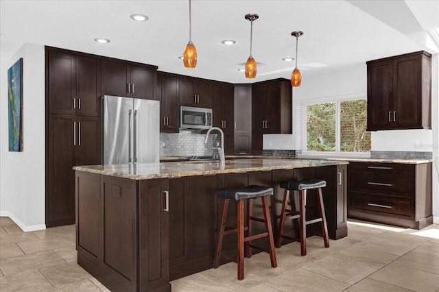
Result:
M78 264L112 291L171 291L168 180L76 171Z

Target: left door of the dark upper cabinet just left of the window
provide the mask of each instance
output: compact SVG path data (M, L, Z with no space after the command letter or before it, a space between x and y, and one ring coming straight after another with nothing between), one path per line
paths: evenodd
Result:
M252 86L252 133L263 134L265 132L265 110L267 104L265 84Z

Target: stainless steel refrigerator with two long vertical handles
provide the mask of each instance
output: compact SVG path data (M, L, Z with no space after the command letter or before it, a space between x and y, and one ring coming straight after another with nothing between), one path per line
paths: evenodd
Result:
M104 165L159 162L160 101L102 97Z

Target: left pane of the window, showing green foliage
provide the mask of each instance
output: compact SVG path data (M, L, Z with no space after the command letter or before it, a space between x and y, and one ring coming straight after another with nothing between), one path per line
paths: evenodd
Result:
M335 102L307 106L308 151L335 151Z

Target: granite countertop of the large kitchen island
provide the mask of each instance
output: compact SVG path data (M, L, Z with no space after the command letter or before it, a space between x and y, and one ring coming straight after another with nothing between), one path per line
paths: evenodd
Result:
M249 158L226 160L226 165L223 166L219 165L217 161L185 161L137 163L135 165L91 165L73 167L73 169L118 178L128 178L130 180L150 180L154 178L181 178L194 175L272 171L276 169L296 169L347 164L348 162L346 161L336 160Z

